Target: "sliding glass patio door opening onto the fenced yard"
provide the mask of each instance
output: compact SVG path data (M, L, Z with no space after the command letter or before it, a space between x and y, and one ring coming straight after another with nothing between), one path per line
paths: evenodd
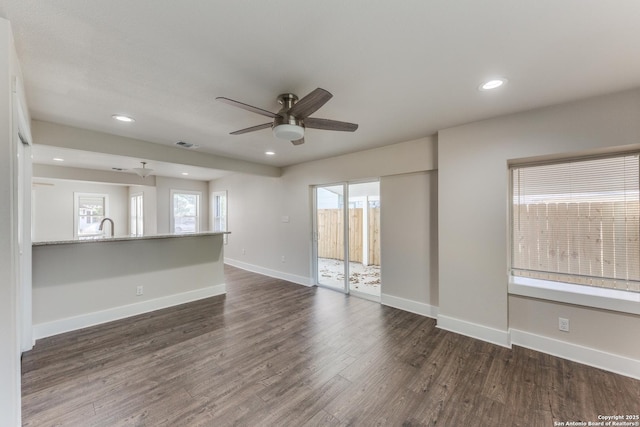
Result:
M380 182L314 188L316 284L380 300Z

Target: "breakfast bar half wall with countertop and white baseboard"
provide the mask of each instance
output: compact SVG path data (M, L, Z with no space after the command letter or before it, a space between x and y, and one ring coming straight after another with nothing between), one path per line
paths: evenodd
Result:
M224 294L224 234L35 242L34 339Z

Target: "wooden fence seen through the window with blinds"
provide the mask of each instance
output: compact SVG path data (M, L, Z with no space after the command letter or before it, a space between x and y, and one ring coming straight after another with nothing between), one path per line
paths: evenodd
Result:
M637 201L515 205L514 274L640 290Z

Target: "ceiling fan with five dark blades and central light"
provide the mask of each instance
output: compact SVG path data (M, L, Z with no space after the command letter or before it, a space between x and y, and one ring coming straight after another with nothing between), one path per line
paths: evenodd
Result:
M358 129L355 123L340 122L330 119L318 119L309 117L322 107L327 101L333 97L328 91L317 88L307 96L298 100L298 97L292 93L283 93L278 96L278 103L282 108L277 113L263 110L233 99L219 96L216 99L225 104L242 108L273 119L273 122L263 123L261 125L252 126L246 129L240 129L231 132L231 135L240 135L243 133L254 132L261 129L272 128L273 135L276 138L287 139L293 145L304 144L304 129L322 129L322 130L339 130L343 132L354 132Z

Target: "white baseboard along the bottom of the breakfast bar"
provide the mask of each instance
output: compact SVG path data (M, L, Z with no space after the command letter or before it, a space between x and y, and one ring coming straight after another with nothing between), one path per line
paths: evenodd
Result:
M141 301L135 304L128 304L120 307L110 308L107 310L87 313L80 316L40 323L33 325L33 338L35 342L35 340L40 338L50 337L52 335L62 334L64 332L75 331L77 329L99 325L101 323L124 319L126 317L148 313L150 311L160 310L162 308L173 307L174 305L197 301L203 298L223 295L226 292L226 285L223 283L221 285L210 286L194 291Z

